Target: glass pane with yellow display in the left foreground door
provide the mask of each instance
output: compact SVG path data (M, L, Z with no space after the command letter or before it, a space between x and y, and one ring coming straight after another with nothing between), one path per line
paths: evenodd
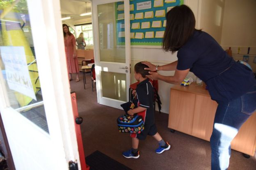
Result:
M49 133L32 38L36 28L30 25L27 1L0 0L0 11L0 83L7 91L6 100Z

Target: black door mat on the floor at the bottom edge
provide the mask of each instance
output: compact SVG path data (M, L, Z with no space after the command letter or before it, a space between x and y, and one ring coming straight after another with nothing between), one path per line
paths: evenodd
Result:
M85 161L90 170L132 170L98 150L88 155Z

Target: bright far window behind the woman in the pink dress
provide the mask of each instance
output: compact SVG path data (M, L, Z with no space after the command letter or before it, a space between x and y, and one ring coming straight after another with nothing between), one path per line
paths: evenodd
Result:
M75 26L75 32L76 32L76 37L78 37L79 34L83 32L86 45L93 45L93 35L92 35L91 24Z

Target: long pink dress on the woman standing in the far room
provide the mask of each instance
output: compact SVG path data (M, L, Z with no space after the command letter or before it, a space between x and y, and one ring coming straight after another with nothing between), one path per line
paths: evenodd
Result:
M65 52L66 52L66 62L69 73L78 73L78 59L77 56L73 58L74 46L75 46L75 36L71 34L66 40L64 38Z

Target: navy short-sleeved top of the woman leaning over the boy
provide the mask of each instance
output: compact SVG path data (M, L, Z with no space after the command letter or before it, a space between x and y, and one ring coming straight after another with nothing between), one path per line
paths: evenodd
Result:
M194 31L178 50L177 57L177 69L190 69L206 83L211 98L217 102L238 98L256 83L249 67L235 62L212 36L203 31Z

